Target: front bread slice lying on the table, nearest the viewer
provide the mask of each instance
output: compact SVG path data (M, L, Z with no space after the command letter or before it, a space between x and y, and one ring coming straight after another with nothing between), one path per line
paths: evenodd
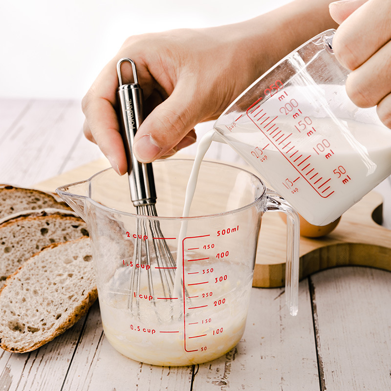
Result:
M39 348L74 325L98 297L90 239L55 243L10 276L0 292L0 346Z

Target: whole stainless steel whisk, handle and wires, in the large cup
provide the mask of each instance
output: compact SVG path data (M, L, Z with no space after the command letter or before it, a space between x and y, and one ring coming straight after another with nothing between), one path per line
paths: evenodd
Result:
M132 67L134 83L123 84L121 77L121 64L129 62ZM130 196L136 208L137 215L157 216L156 190L153 178L152 163L140 163L132 152L133 139L143 119L143 92L138 85L136 65L129 58L122 58L117 63L119 88L117 97L119 102L118 118L122 131L122 138L128 161L128 176ZM154 252L152 254L152 251ZM145 254L143 257L142 254ZM155 260L155 264L151 264ZM159 295L166 298L172 297L175 276L175 261L164 239L158 219L137 219L137 239L135 239L133 264L145 267L133 267L130 281L130 309L139 308L137 298L140 294L141 273L147 273L149 294L154 298L155 289L152 282L153 271L157 269L160 274L161 287ZM148 267L147 267L148 266ZM153 269L153 270L152 270ZM159 284L160 285L160 284ZM134 294L133 294L134 293Z

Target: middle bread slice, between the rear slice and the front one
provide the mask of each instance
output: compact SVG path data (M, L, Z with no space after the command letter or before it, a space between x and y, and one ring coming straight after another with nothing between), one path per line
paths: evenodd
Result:
M88 236L87 224L64 211L34 212L0 224L0 288L43 247Z

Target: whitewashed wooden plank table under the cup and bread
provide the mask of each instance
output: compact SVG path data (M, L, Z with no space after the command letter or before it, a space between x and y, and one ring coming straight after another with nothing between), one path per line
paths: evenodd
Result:
M82 124L79 102L1 99L0 183L33 186L102 157L84 139ZM221 158L221 150L211 153ZM391 196L390 188L381 186ZM117 353L95 303L42 348L1 351L0 390L391 390L391 273L344 267L312 275L300 283L297 317L288 315L282 293L253 288L238 346L182 368Z

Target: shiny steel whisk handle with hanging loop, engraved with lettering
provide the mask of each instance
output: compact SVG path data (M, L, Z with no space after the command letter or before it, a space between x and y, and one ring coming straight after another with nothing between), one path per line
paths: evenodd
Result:
M124 61L132 65L134 83L122 84L120 65ZM152 164L140 163L132 152L134 135L144 119L143 90L137 83L136 68L132 60L126 58L119 60L117 72L120 84L117 90L118 120L128 162L131 200L136 207L155 204L156 190Z

